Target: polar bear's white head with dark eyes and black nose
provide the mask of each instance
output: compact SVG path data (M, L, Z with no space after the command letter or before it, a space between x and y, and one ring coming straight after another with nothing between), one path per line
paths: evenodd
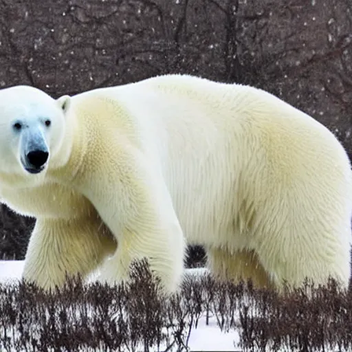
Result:
M47 168L63 144L68 101L24 85L0 90L1 172L33 175Z

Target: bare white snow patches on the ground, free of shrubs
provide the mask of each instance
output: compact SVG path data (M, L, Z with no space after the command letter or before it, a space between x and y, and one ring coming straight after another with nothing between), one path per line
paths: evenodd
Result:
M0 261L0 281L17 281L21 278L23 261ZM188 270L187 274L197 274L203 270ZM235 346L239 342L236 331L222 332L217 327L216 319L211 319L206 325L205 317L199 320L197 328L193 327L190 332L188 347L190 351L241 351Z

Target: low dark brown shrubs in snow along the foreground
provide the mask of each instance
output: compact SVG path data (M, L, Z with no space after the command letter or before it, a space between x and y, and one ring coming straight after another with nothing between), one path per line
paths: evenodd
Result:
M77 278L51 294L23 282L0 285L0 350L186 351L190 331L209 317L222 331L238 331L243 351L352 349L352 292L333 281L277 296L204 274L165 298L145 262L131 276L120 287Z

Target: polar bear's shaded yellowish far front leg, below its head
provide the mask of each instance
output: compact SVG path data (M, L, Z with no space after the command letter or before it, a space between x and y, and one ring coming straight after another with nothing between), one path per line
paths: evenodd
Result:
M112 254L116 241L98 217L36 219L23 278L44 289L61 287L66 274L86 276Z

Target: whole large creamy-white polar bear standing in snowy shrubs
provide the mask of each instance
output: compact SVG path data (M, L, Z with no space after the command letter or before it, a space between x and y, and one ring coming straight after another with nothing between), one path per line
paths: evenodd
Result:
M25 278L52 287L102 265L120 282L147 258L175 292L189 243L219 278L347 287L349 157L276 96L178 74L57 100L23 86L0 96L0 196L37 219Z

